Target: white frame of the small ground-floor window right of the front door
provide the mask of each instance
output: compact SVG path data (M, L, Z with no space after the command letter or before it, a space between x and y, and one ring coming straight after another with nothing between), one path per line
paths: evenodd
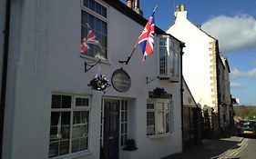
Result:
M171 101L169 99L159 99L159 98L151 98L147 100L147 104L154 104L154 108L153 109L148 109L147 107L147 113L148 112L154 112L155 114L155 130L154 130L154 134L148 134L147 132L147 136L148 138L158 138L158 137L163 137L163 136L168 136L169 134L171 134L171 128L170 128L170 122L171 122L171 115L170 115L170 110L171 110ZM169 109L160 109L159 107L161 106L161 104L168 104ZM159 113L164 113L163 116L163 124L164 126L161 127L160 124L158 123L159 118L161 116L159 116ZM166 114L168 115L168 118L166 118ZM148 120L148 117L147 117ZM168 131L167 131L167 120L168 120ZM148 121L147 121L147 126L148 126ZM164 131L162 133L159 133L159 130L163 128Z

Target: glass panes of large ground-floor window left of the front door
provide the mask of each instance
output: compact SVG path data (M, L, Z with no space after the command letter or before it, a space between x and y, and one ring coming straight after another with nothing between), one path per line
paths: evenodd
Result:
M76 99L75 106L72 106L73 98ZM73 95L52 95L50 158L88 150L88 104L89 98L87 97L76 98ZM73 116L72 119L71 116Z

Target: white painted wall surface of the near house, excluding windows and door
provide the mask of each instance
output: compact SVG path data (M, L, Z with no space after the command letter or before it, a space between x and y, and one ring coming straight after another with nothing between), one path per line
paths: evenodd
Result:
M37 9L36 2L39 3ZM144 26L111 6L103 5L108 7L108 63L100 67L97 65L85 74L85 59L79 56L80 1L13 2L10 38L13 47L10 50L10 74L7 79L3 158L48 158L51 95L55 92L91 96L91 153L80 158L99 158L102 95L128 98L131 106L133 114L129 113L132 119L129 124L131 132L128 134L136 140L138 150L124 152L120 149L120 158L155 159L181 152L180 83L160 83L157 80L146 84L147 76L158 75L156 54L148 56L142 64L142 54L137 49L129 65L118 63L118 60L128 57ZM105 74L110 79L113 72L121 67L131 77L128 92L119 93L110 87L106 94L102 94L87 86L97 73ZM165 86L166 91L173 94L172 133L167 137L149 139L146 135L146 102L148 91L157 86Z

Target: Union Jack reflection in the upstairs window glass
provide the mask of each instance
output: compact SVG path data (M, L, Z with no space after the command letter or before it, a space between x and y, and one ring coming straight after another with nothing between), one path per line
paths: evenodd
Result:
M94 32L92 30L89 30L87 37L84 38L81 43L82 54L86 53L90 47L94 45L100 45L98 40L96 40L95 38L96 38L96 35L94 34Z

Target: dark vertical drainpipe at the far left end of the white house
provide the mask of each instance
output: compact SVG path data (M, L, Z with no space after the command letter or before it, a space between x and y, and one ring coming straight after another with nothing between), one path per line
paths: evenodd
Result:
M3 155L3 141L4 141L4 119L5 119L5 93L7 81L7 65L9 52L9 35L10 35L10 14L11 14L11 0L6 0L5 8L5 42L3 55L3 72L1 84L1 101L0 101L0 159Z

